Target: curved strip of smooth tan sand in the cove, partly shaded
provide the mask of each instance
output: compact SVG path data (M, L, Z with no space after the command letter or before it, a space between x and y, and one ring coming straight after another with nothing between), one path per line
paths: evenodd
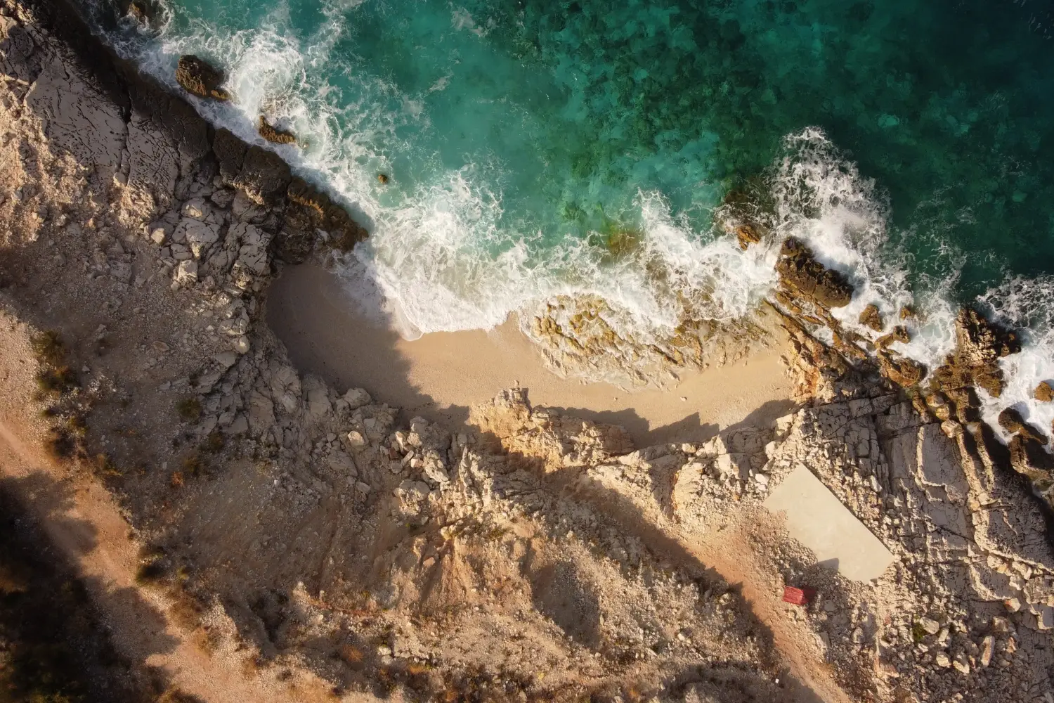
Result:
M376 399L433 422L464 422L471 405L516 384L534 405L622 425L638 446L706 440L739 423L767 425L794 407L776 351L686 370L665 390L627 391L553 374L512 318L489 332L436 332L408 341L356 312L340 279L313 265L284 269L269 289L267 319L301 371L337 388L367 388Z

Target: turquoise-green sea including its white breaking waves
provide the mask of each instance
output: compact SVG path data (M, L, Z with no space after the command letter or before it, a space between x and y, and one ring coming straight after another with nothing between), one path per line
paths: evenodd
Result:
M873 300L931 309L904 351L939 357L976 296L1029 327L1023 398L1054 376L1047 6L164 0L150 32L89 12L169 82L182 53L221 65L235 104L199 105L210 119L252 138L265 114L307 140L279 151L367 221L354 268L411 332L560 293L602 295L645 335L684 300L742 314L773 252L740 254L711 220L749 185L853 276L847 320ZM622 232L641 247L613 257Z

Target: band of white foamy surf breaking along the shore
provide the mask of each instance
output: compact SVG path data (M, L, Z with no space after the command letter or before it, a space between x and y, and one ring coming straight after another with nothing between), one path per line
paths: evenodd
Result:
M327 21L305 36L287 31L285 5L252 30L227 32L191 18L177 31L171 14L163 14L154 35L110 36L122 55L174 90L180 54L219 59L235 100L196 101L204 117L268 148L273 147L255 131L261 114L300 137L304 149L273 149L298 175L326 187L368 222L370 238L355 250L344 275L358 301L387 313L403 336L489 329L510 313L529 319L554 298L599 297L613 330L648 344L668 337L687 317L723 323L749 315L773 293L779 242L795 236L852 281L852 301L833 311L846 329L876 338L878 332L858 321L867 305L876 305L885 331L903 324L911 332L911 341L893 345L897 352L933 369L954 348L962 253L945 245L939 275L913 276L910 255L891 241L881 184L861 176L818 129L785 137L768 173L772 234L745 252L717 228L699 229L659 190L638 191L621 213L639 241L619 255L590 243L604 239L603 233L561 237L559 231L510 219L503 183L513 167L496 155L460 168L429 164L421 171L426 179L379 187L376 173L395 167L391 154L403 149L405 158L412 152L408 129L430 125L423 96L449 90L449 76L429 82L418 95L353 75L351 100L347 85L329 79L341 60L334 47L348 32L340 14L345 5L327 5ZM475 24L461 20L460 25L456 17L451 20L457 31L480 36L472 32ZM1048 278L1013 278L976 300L1027 331L1023 351L1001 360L1002 396L980 391L983 415L995 427L995 416L1008 406L1045 431L1054 419L1054 404L1032 397L1039 382L1054 378L1054 331L1047 312L1052 290ZM907 305L920 314L901 321L898 312Z

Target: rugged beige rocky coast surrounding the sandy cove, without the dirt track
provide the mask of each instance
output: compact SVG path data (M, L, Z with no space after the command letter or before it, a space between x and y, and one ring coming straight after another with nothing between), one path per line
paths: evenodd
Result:
M452 431L408 418L299 374L262 321L281 267L358 226L0 8L0 302L36 357L4 422L105 486L141 588L209 657L349 701L1051 701L1046 437L1008 414L1006 447L971 394L1010 333L964 311L923 379L838 324L852 291L787 242L801 407L776 427L637 449L521 389ZM816 564L763 507L800 466L893 553L881 578ZM818 598L782 603L798 585Z

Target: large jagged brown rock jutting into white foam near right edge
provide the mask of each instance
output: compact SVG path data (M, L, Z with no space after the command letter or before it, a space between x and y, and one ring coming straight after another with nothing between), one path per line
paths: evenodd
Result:
M955 351L934 372L934 385L945 393L976 386L999 397L1003 389L999 358L1021 351L1017 335L973 308L963 308L955 318Z

